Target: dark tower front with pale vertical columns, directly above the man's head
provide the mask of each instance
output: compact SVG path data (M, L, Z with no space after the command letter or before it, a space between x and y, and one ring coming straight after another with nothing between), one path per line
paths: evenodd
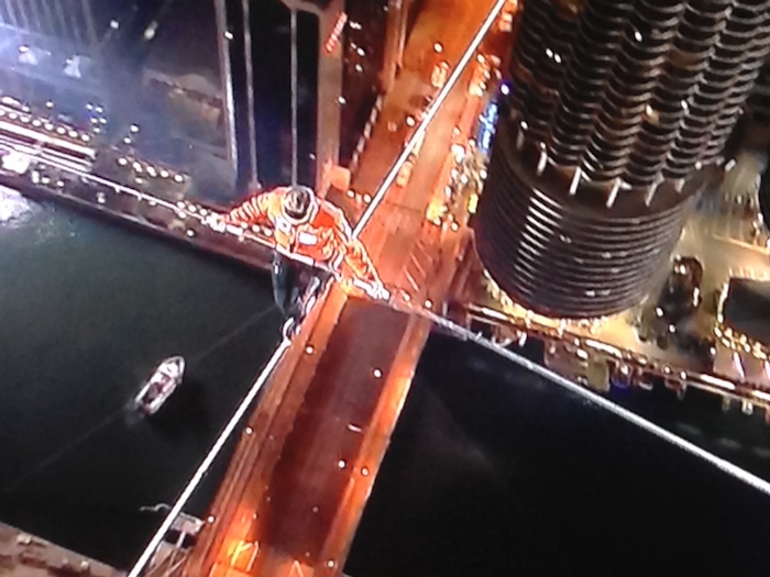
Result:
M338 162L344 0L215 0L239 189L290 178L290 8L297 11L298 179L321 187Z

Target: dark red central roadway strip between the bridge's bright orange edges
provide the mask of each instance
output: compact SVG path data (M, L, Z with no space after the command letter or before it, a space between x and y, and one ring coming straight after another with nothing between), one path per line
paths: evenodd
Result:
M256 510L254 536L265 553L275 546L282 556L310 565L329 561L319 555L348 484L360 476L351 464L361 455L361 430L372 419L408 320L381 304L348 301ZM253 574L266 574L267 556Z

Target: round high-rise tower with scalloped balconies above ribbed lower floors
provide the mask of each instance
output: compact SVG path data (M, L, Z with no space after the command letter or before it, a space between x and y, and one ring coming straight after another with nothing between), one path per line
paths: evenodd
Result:
M663 270L765 60L770 0L527 0L475 221L524 306L597 317Z

